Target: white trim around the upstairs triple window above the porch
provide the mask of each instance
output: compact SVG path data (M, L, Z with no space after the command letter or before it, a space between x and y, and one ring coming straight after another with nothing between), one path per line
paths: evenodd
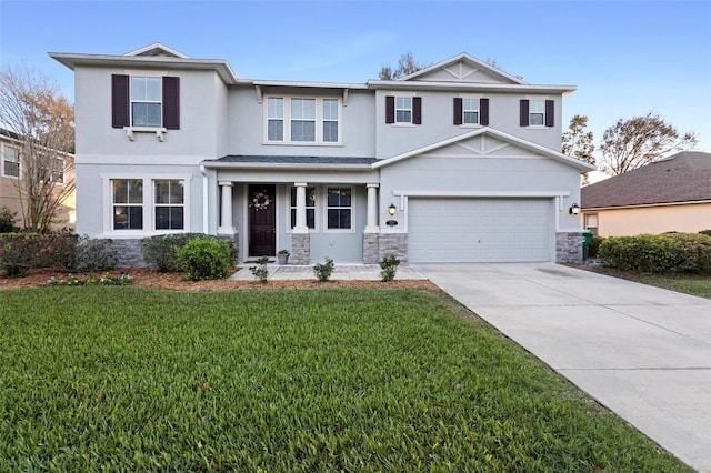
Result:
M283 99L283 137L281 141L269 140L269 99ZM291 141L291 99L316 100L316 140ZM338 141L323 141L323 100L338 102ZM333 120L327 120L333 121ZM267 94L262 99L262 144L291 147L342 147L343 145L343 97Z

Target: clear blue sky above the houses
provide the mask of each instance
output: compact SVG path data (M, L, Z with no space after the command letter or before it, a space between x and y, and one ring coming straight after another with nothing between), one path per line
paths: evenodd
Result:
M73 101L48 52L122 54L162 42L227 59L250 79L365 82L404 52L468 52L530 83L573 84L567 125L598 141L618 119L659 113L711 152L711 1L0 0L0 64L29 66Z

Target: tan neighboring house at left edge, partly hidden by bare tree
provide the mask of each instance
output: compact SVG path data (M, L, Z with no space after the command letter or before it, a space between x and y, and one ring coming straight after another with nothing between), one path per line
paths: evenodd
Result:
M17 215L17 224L22 227L23 208L27 202L21 201L20 191L23 189L22 181L22 140L17 133L0 129L0 208L7 207ZM61 188L66 182L73 179L73 155L59 153L56 165L52 169L52 179L57 180L57 188ZM54 218L54 229L72 229L74 224L74 194L69 194L59 207Z

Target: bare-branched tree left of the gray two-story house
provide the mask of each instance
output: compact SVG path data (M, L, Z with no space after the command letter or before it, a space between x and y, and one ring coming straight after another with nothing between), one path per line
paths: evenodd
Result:
M47 232L60 205L74 192L69 171L74 112L48 77L28 68L0 71L0 127L19 142L16 181L24 227Z

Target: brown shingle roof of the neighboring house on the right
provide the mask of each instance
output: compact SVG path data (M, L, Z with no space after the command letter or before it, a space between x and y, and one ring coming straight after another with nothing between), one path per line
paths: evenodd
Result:
M580 190L583 210L711 201L711 153L683 151Z

